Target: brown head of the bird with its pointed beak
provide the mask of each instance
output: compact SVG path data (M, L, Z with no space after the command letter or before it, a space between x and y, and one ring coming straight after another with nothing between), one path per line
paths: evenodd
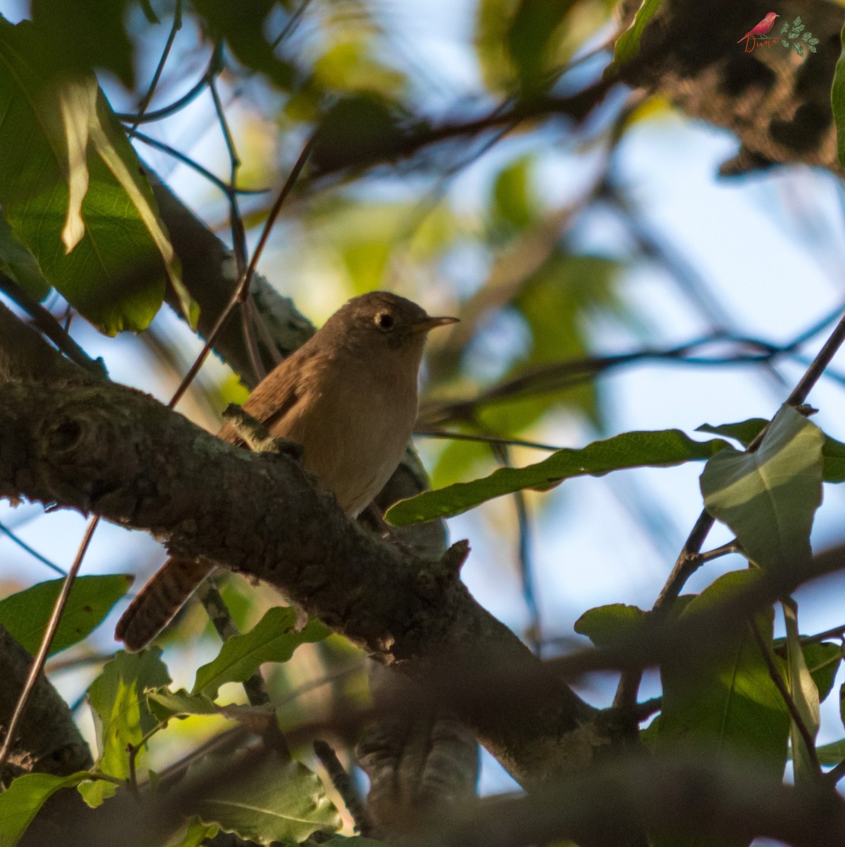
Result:
M370 291L352 297L326 322L321 335L357 353L396 351L418 353L428 331L456 323L458 318L432 318L422 306L391 294Z

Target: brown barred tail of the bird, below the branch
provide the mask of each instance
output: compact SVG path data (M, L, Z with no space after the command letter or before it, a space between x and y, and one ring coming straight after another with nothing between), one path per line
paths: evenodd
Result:
M114 637L130 653L146 647L214 569L194 559L168 559L123 613Z

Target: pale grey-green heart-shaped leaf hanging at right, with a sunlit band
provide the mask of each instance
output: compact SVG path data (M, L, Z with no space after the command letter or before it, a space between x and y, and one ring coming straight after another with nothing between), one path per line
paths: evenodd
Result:
M823 444L815 424L784 406L756 451L727 447L705 465L704 506L733 530L760 567L782 572L809 562Z

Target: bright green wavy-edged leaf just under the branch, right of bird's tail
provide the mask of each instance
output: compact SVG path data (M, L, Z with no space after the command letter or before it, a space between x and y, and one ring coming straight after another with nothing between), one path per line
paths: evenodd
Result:
M224 683L242 683L264 662L287 662L301 644L322 641L329 629L318 620L308 622L300 633L292 632L296 612L275 606L250 632L234 635L223 645L216 659L196 672L192 693L214 700Z

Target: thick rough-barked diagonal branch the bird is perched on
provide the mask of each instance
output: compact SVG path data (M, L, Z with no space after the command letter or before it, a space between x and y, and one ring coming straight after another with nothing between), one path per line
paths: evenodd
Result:
M0 385L0 431L0 496L96 512L264 579L435 698L442 667L544 676L457 579L465 550L431 562L384 543L289 457L226 445L139 391L86 378ZM550 674L530 695L477 689L451 705L523 783L584 767L599 741L594 712Z

